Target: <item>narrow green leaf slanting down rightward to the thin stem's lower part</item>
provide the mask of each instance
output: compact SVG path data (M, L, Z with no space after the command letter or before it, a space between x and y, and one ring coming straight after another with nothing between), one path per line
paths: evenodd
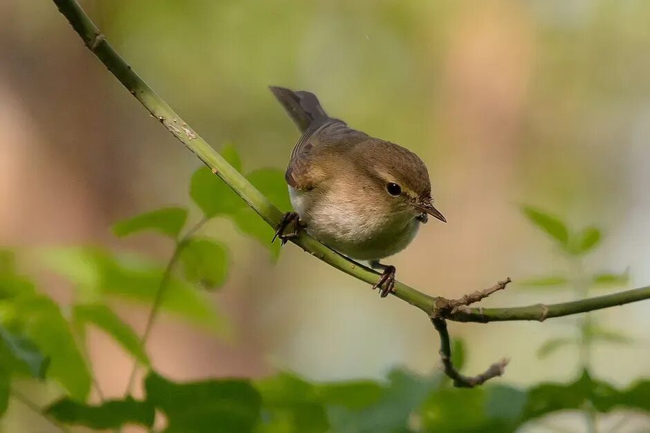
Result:
M149 357L140 343L135 331L109 307L102 304L75 305L73 308L75 323L84 327L91 323L113 337L129 354L143 365L149 365Z

